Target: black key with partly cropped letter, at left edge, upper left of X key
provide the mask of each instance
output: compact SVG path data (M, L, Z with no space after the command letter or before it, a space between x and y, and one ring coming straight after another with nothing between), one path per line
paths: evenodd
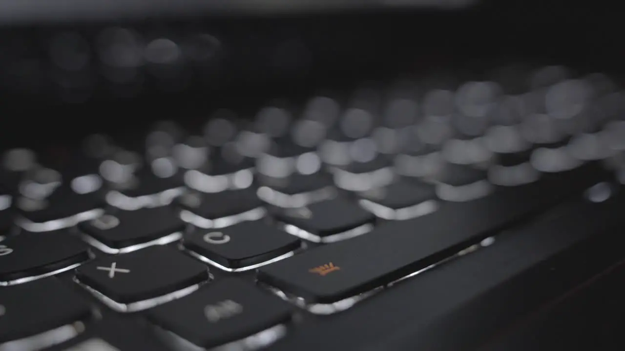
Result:
M56 274L88 259L88 246L67 230L24 232L0 242L0 285Z

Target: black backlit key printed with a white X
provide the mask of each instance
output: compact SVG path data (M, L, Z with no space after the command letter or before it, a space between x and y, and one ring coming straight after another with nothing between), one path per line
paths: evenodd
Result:
M109 307L131 312L146 308L146 304L134 305L134 302L163 297L205 282L208 269L171 247L158 245L89 262L76 270L76 278L95 290L96 296L102 294L108 298L103 301Z

